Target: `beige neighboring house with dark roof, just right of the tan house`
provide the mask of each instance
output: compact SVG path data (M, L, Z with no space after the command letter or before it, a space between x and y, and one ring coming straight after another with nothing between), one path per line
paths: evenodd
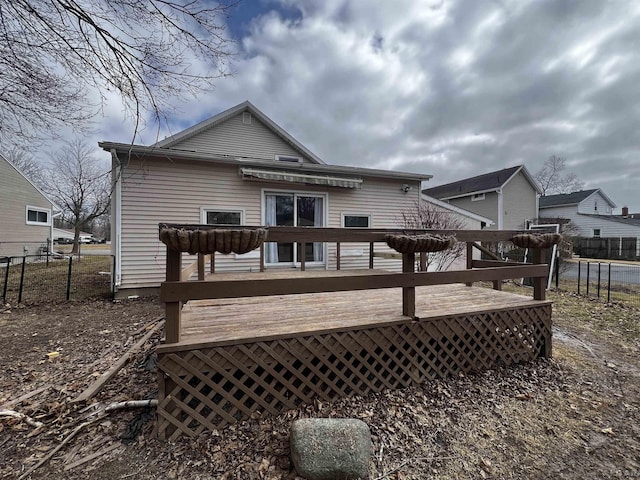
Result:
M538 217L540 186L524 165L423 190L458 208L491 219L487 228L516 230Z

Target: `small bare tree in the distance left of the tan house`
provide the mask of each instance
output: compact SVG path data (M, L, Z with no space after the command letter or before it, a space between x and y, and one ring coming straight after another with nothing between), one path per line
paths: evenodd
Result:
M57 152L46 174L45 191L73 226L72 253L78 253L80 232L109 209L111 180L108 168L100 168L92 149L80 140Z

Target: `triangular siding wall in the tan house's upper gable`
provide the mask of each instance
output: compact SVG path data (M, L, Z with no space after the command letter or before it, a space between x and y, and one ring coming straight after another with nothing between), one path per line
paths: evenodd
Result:
M310 162L255 116L252 115L250 125L242 123L242 113L189 137L172 148L265 160L274 160L275 155L291 155Z

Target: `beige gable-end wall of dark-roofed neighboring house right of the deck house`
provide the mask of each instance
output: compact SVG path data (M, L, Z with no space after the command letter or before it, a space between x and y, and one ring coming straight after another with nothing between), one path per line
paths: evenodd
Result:
M504 230L517 230L525 227L525 220L538 218L536 211L536 191L522 171L518 172L503 189L503 225Z

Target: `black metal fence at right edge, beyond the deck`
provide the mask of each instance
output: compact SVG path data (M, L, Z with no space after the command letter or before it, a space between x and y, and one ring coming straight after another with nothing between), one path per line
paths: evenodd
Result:
M555 283L580 295L640 306L640 264L565 262L556 270Z

